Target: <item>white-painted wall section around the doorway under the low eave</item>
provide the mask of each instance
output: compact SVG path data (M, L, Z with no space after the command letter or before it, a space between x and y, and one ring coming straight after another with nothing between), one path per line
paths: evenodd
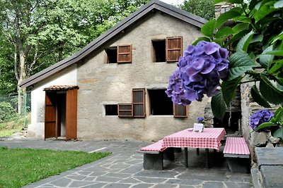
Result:
M43 89L53 85L76 85L76 80L76 65L72 65L70 68L63 70L32 87L31 124L28 125L28 137L44 137L45 92Z

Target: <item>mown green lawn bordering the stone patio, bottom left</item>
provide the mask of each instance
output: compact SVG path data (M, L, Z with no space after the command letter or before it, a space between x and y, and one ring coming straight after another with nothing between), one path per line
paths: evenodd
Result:
M0 147L0 187L23 187L109 154Z

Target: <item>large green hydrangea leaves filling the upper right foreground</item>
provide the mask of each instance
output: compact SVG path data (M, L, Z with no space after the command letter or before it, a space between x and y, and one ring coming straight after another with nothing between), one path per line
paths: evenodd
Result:
M216 0L218 4L225 0ZM212 112L222 119L236 95L236 88L254 82L250 92L260 106L283 104L283 1L226 0L234 8L209 20L194 43L216 42L231 52L229 75L221 82L221 90L212 97ZM279 126L274 133L282 137L282 107L275 118L260 128Z

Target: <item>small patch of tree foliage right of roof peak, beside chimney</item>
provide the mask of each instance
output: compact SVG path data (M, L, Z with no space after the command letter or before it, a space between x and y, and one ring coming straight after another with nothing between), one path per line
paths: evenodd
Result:
M213 1L214 0L185 0L180 8L204 19L211 20L215 17Z

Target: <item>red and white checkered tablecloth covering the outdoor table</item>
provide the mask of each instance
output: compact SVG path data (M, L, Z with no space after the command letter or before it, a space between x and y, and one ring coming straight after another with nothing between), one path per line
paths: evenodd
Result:
M226 134L224 128L204 128L203 132L187 129L164 137L162 146L219 150L220 140L224 134Z

